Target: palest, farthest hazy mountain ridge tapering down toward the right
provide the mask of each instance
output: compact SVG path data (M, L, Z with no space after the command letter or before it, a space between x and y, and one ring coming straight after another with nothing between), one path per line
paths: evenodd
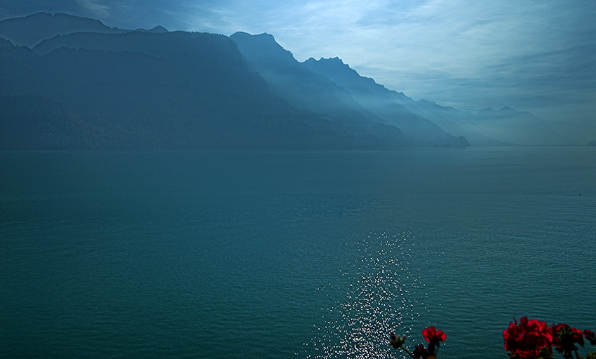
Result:
M450 135L466 137L476 146L574 144L528 112L506 107L494 113L480 111L472 114L428 100L414 101L373 79L360 76L337 57L318 61L311 58L304 64L349 90L358 102L404 130L405 134L438 135L437 128L433 128L437 126Z

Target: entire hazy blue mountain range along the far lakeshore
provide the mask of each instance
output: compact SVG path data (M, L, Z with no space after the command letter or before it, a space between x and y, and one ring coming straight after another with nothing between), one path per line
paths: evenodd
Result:
M573 144L527 112L414 101L269 34L0 22L0 149L396 149Z

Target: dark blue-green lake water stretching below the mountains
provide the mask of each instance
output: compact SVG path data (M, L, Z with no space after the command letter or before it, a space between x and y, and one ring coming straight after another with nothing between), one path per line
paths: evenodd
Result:
M596 148L0 152L1 358L506 358L596 330Z

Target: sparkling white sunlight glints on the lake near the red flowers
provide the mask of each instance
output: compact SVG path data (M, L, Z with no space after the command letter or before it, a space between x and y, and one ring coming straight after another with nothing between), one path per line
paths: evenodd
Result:
M345 298L323 309L325 325L305 344L316 352L309 358L395 358L388 334L409 334L424 308L419 298L426 297L424 284L409 270L412 239L412 233L376 233L355 243L358 254L342 273Z

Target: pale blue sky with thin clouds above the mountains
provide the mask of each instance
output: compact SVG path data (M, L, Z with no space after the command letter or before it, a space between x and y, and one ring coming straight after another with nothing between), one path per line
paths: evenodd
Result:
M109 27L272 34L299 61L340 57L414 100L512 107L596 128L594 0L2 0ZM596 134L595 134L596 135Z

